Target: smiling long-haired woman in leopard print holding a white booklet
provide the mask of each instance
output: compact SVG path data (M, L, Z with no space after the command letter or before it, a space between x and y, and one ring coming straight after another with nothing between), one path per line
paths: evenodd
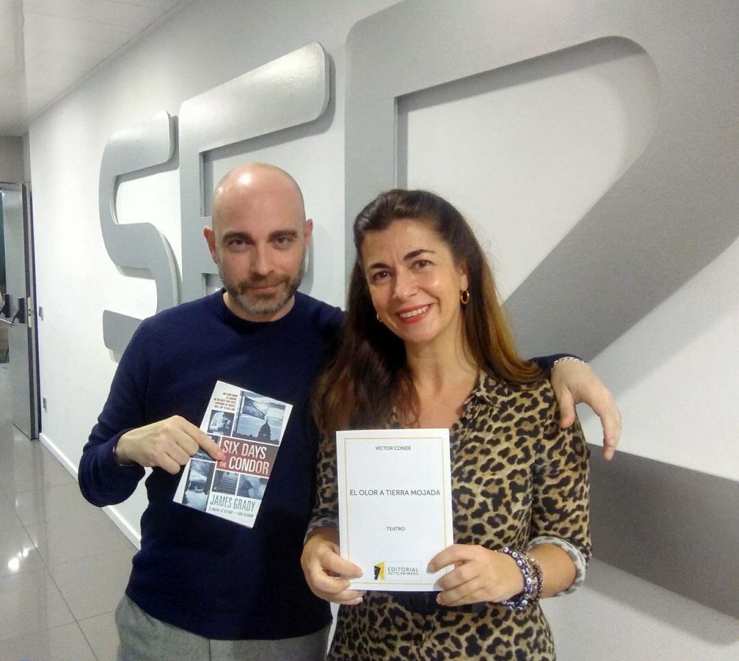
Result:
M357 258L336 358L315 387L323 434L306 580L341 604L331 659L554 659L539 598L590 557L588 449L562 429L542 369L518 356L494 279L457 209L428 191L379 195L354 224ZM448 427L454 541L438 593L349 589L338 553L336 430Z

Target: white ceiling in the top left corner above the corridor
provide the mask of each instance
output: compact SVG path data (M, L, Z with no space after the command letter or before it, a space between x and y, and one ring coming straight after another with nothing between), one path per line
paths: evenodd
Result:
M0 136L194 0L0 0Z

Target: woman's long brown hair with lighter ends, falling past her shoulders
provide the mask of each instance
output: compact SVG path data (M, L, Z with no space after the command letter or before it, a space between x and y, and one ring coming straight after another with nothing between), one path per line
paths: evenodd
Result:
M449 246L469 279L463 305L465 350L481 369L517 384L542 378L535 363L520 358L500 306L490 266L473 231L457 209L429 191L394 189L375 197L354 221L357 257L338 351L313 389L313 413L323 433L383 426L393 407L404 420L418 420L418 396L406 365L403 341L378 322L361 264L369 231L395 220L429 223ZM461 305L461 304L460 304Z

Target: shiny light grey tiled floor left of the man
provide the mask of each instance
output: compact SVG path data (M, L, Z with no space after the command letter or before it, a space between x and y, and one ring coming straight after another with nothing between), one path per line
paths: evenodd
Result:
M0 364L0 661L112 661L132 544L8 419Z

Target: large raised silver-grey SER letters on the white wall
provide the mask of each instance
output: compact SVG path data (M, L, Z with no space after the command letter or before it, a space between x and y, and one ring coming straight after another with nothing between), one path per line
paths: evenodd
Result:
M642 11L643 0L585 3L575 13L546 2L527 4L522 12L512 0L457 0L436 3L429 11L426 0L406 0L358 21L346 45L347 219L351 210L397 183L401 98L582 44L636 44L658 72L660 112L653 138L506 301L524 352L555 345L577 347L585 358L597 355L739 234L739 134L732 126L739 63L728 27L736 22L736 10L716 5L708 11L675 1L681 9L674 16L692 30L677 29L664 13ZM717 25L727 27L717 32ZM409 39L409 30L437 38ZM710 50L695 47L700 30L712 34ZM171 158L177 138L171 118L163 112L110 138L100 177L103 239L116 265L151 272L157 311L202 296L205 274L216 273L200 238L210 220L203 212L202 155L316 120L328 101L327 57L314 43L182 104L181 285L160 232L149 223L119 226L115 217L118 177ZM457 171L464 166L454 163ZM346 237L349 267L350 231ZM542 318L546 324L539 323ZM120 353L139 322L104 311L106 347Z

